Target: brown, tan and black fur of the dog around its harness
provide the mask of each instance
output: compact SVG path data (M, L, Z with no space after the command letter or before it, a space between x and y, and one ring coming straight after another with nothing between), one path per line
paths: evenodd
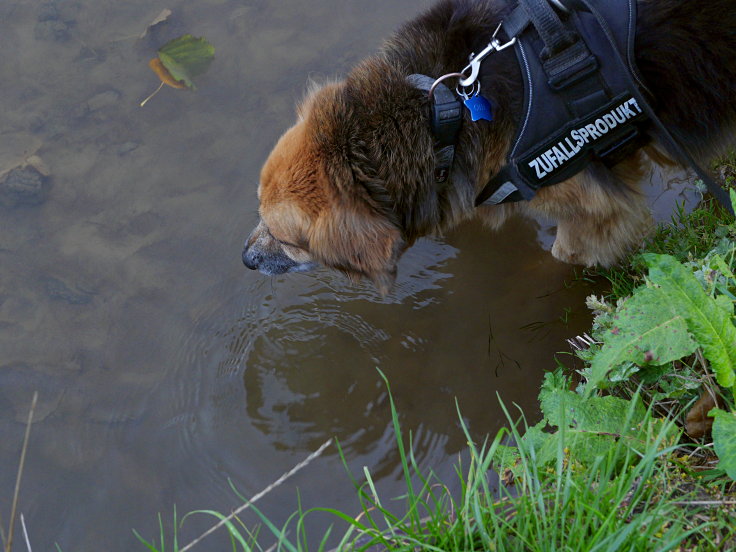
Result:
M611 265L640 243L652 225L638 191L644 165L671 162L656 134L613 169L593 164L530 202L474 207L520 119L523 86L511 48L484 61L482 89L497 106L495 120L466 115L450 181L434 183L427 94L406 77L464 67L505 4L442 0L347 79L308 95L263 168L261 221L246 241L246 266L281 274L322 264L385 291L417 238L475 215L495 228L514 211L556 220L552 254L566 262ZM655 110L707 164L734 143L736 0L639 0L638 9L636 63Z

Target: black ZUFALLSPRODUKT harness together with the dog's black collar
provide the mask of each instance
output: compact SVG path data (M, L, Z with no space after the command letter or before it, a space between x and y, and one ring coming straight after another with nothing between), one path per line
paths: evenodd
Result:
M654 124L670 154L692 166L731 209L724 190L672 138L645 97L634 63L636 0L519 0L501 30L507 44L515 41L524 107L506 165L476 205L530 200L541 187L567 180L591 162L613 166L644 144L646 127ZM426 89L422 77L409 80ZM462 117L450 114L462 113L463 104L441 83L434 96L436 155L438 148L453 147L454 153ZM438 183L449 174L447 155L440 157Z

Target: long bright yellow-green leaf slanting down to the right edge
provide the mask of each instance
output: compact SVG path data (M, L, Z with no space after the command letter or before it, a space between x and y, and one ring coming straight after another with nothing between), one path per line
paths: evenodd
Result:
M644 260L650 281L660 286L665 305L685 319L718 383L732 387L736 381L736 326L731 314L708 296L692 272L673 257L649 253Z

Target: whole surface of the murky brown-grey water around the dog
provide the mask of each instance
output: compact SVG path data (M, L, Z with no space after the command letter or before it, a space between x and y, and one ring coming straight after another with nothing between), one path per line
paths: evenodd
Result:
M0 3L0 172L32 154L50 172L0 202L0 520L38 391L20 502L34 549L141 549L131 528L152 538L157 512L228 511L228 479L252 496L332 436L399 494L376 368L440 474L465 446L456 399L479 437L503 423L497 394L534 415L553 354L589 323L590 290L546 252L543 222L422 240L385 299L240 261L260 165L307 78L344 74L426 5ZM198 91L138 107L157 86L148 59L184 32L217 48ZM334 449L262 508L282 522L297 489L305 507L358 511Z

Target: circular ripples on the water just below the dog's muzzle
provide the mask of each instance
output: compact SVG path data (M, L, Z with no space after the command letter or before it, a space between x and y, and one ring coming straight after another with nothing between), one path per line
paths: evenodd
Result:
M387 397L375 367L384 364L387 343L402 340L385 324L386 309L431 305L455 254L422 240L402 260L410 275L400 270L386 298L369 283L356 286L328 271L253 275L237 295L232 281L208 290L189 313L191 329L167 387L158 390L172 395L158 431L175 432L187 459L178 477L196 471L213 482L213 492L227 492L233 476L256 488L278 457L262 451L301 453L332 436L355 454L378 447L388 462L394 447L384 442L387 428L391 433ZM420 341L409 334L400 346Z

